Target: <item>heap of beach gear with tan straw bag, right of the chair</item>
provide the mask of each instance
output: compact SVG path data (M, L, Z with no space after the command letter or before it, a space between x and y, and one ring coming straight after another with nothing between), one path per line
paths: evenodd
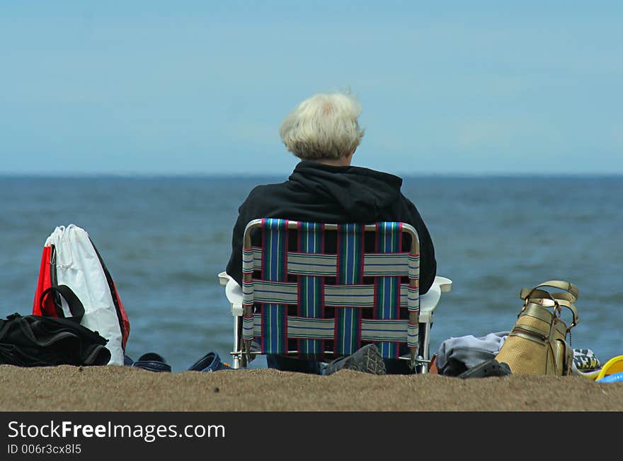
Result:
M552 293L545 287L559 291ZM559 280L522 289L524 305L513 329L446 339L433 358L433 373L458 378L581 375L599 383L623 382L623 356L602 365L592 350L571 349L567 342L571 328L578 324L578 293L576 286ZM568 327L563 308L571 312Z

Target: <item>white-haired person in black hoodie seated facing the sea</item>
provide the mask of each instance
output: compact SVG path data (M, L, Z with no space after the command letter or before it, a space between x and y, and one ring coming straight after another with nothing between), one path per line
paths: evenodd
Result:
M311 96L285 117L279 130L281 139L301 161L287 181L256 187L240 206L227 264L227 273L239 284L244 228L256 218L411 224L420 240L420 293L426 293L433 284L433 242L418 210L401 193L401 178L351 166L364 134L358 123L360 112L360 104L350 95L331 93ZM293 369L274 361L268 356L268 366Z

